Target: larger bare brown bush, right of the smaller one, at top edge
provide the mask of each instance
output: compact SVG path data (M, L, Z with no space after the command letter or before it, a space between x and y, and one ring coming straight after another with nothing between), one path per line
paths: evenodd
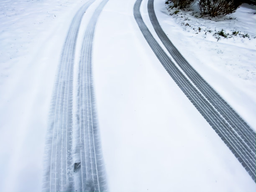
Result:
M240 0L199 0L198 8L212 17L234 13L241 5Z

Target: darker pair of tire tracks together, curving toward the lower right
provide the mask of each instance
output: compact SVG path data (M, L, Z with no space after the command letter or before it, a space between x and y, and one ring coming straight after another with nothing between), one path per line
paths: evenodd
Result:
M141 2L136 0L133 15L148 45L174 82L256 182L255 133L179 53L156 18L154 0L148 0L148 14L154 30L186 76L178 69L144 23L140 13Z

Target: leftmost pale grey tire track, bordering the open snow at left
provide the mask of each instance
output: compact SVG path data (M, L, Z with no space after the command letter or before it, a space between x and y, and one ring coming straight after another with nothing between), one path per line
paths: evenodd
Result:
M87 1L74 16L61 54L46 135L42 186L42 190L46 192L73 191L72 92L74 53L82 16L93 1Z

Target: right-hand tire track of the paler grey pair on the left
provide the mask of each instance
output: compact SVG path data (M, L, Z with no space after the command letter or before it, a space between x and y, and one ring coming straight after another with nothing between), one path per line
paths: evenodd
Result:
M108 0L103 0L96 8L85 31L79 62L77 102L77 148L79 148L79 169L76 180L79 180L77 191L106 191L106 179L100 148L100 136L97 125L97 113L92 79L92 45L97 19Z

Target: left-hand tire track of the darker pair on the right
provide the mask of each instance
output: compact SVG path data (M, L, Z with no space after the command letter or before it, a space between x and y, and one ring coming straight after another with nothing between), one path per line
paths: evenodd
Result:
M182 92L184 92L184 94L202 114L205 120L207 120L207 122L212 126L212 128L220 136L228 148L230 148L232 153L236 156L238 161L241 162L252 179L256 181L255 153L253 153L252 150L248 148L248 146L236 133L236 131L230 128L229 122L225 120L222 115L218 113L218 111L216 111L215 106L210 104L208 98L203 96L200 91L198 91L197 88L194 87L191 82L189 82L184 74L179 71L173 61L169 58L169 56L167 56L161 46L157 43L141 17L141 1L142 0L136 1L133 8L133 15L144 38L148 42L151 49L154 51L154 54L159 59L169 75L172 77L174 82L176 82L176 84L182 90Z

